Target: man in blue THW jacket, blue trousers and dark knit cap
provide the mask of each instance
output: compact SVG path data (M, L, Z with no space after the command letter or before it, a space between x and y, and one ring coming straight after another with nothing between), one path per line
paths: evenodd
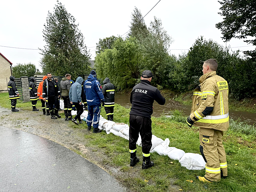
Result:
M99 116L101 103L104 106L104 95L102 93L102 86L99 84L96 78L96 72L92 70L87 80L84 82L84 93L86 95L88 116L86 119L88 130L91 129L93 123L93 133L99 133L102 130L99 126ZM94 116L94 118L93 118Z

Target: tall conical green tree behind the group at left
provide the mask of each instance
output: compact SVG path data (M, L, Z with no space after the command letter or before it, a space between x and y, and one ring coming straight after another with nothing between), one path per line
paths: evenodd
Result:
M41 66L44 73L70 73L77 77L78 74L90 71L90 56L84 44L83 34L75 21L60 2L55 5L53 13L48 12L43 30L46 45L41 49Z

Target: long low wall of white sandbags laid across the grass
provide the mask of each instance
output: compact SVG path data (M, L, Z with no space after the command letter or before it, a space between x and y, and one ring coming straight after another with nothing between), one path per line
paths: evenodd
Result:
M72 115L76 115L76 111L71 111ZM81 119L86 121L88 111L84 111ZM99 129L105 130L107 134L112 133L116 136L129 140L129 126L124 123L116 123L109 121L100 115ZM159 155L168 156L170 159L179 160L181 166L189 170L202 170L205 168L205 161L198 153L185 153L181 149L169 147L170 140L166 138L162 140L155 135L152 135L152 147L150 152L157 152ZM141 137L139 135L137 145L141 146Z

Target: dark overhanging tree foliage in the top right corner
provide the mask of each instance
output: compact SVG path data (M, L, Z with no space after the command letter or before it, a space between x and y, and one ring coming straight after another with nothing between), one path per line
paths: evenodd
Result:
M223 0L218 1L222 7L219 14L224 21L217 23L216 28L222 31L225 42L232 38L246 39L244 42L256 45L256 1L255 0ZM249 39L247 39L249 38ZM256 49L245 51L256 59Z

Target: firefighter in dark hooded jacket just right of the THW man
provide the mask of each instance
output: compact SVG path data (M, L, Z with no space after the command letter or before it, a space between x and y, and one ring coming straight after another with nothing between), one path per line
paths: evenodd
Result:
M108 77L106 77L103 81L102 93L105 99L105 111L108 116L108 120L113 121L114 116L114 106L115 106L115 86L110 83Z

